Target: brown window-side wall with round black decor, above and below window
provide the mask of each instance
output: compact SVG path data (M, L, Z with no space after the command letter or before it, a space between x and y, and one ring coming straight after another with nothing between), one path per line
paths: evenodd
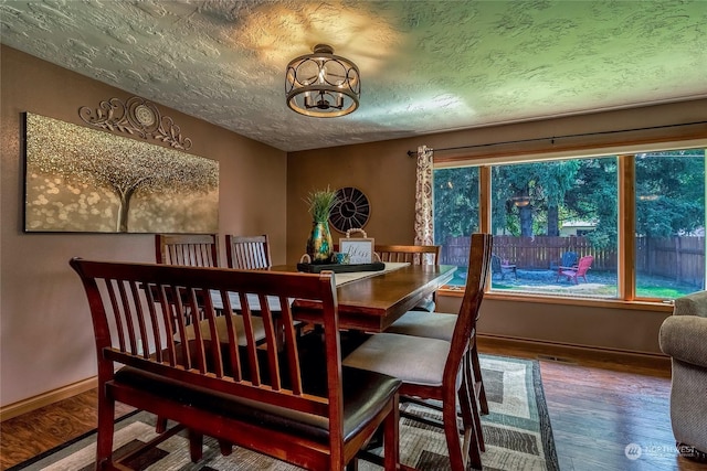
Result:
M528 141L551 136L599 132L594 137L531 141L526 143L479 147L466 151L435 152L435 159L473 156L520 156L535 152L581 153L583 148L615 151L634 142L689 139L707 144L707 126L672 127L707 120L707 100L666 104L641 109L598 113L561 119L496 126L476 130L420 136L411 139L318 149L288 154L287 171L287 258L296 261L304 253L310 221L302 199L313 188L356 186L371 203L371 217L365 227L369 237L381 244L412 244L414 239L415 159L408 150L425 144L434 149L486 144L503 141ZM606 133L637 128L663 129ZM584 153L587 154L587 153ZM590 153L593 154L593 153ZM334 233L335 239L340 234ZM439 301L443 312L455 312L461 298ZM605 304L605 303L604 303ZM562 302L524 302L494 299L484 301L479 332L483 334L529 339L544 342L594 346L631 352L659 353L657 332L668 314L668 307L576 306Z

